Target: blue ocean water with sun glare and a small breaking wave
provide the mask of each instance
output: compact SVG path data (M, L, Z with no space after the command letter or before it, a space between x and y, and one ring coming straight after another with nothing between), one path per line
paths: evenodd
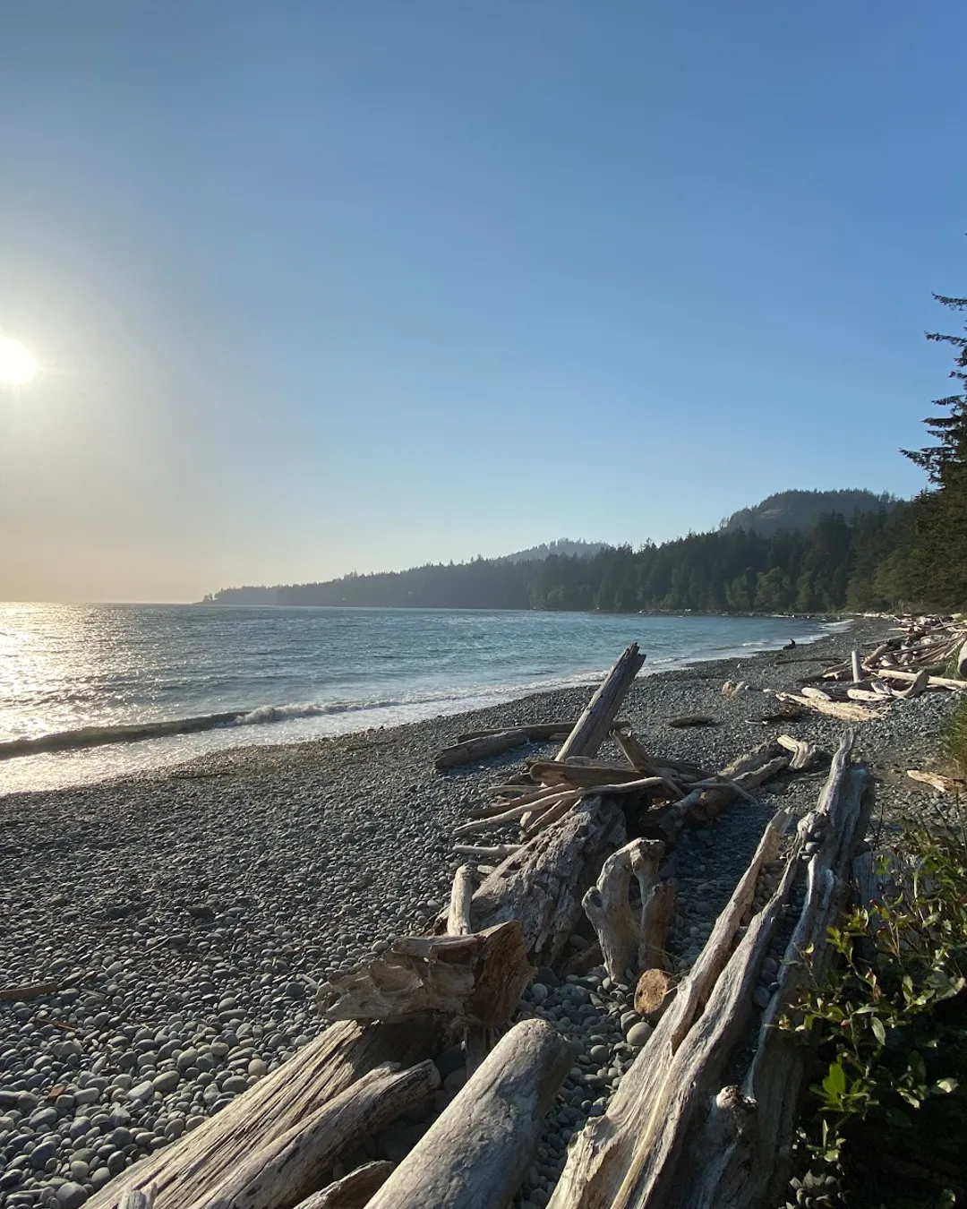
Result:
M809 618L0 604L0 793L587 683L632 641L648 673L821 632Z

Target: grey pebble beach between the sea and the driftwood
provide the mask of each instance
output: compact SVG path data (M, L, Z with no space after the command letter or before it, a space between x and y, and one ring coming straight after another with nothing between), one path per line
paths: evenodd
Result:
M712 770L780 733L758 719L821 658L873 646L864 621L788 655L639 677L623 715L655 753ZM777 664L780 664L777 666ZM723 698L724 679L752 690ZM521 752L440 776L434 752L464 730L574 718L590 689L394 729L279 748L237 748L167 774L0 799L0 990L53 980L58 994L0 1001L0 1209L77 1209L114 1175L218 1112L320 1028L315 985L423 931L448 897L451 833ZM932 793L897 775L925 765L952 695L898 702L859 729L887 817ZM717 725L676 730L706 713ZM842 724L786 724L832 751ZM551 752L534 745L528 757ZM683 903L672 949L687 965L780 805L815 803L823 774L780 779L674 856ZM590 936L590 933L589 933ZM577 942L575 942L577 943ZM575 1065L527 1173L542 1205L567 1141L607 1099L647 1036L629 987L603 972L563 985L542 971L525 1011L572 1039ZM444 1095L459 1053L440 1058ZM425 1122L394 1127L367 1155L398 1158Z

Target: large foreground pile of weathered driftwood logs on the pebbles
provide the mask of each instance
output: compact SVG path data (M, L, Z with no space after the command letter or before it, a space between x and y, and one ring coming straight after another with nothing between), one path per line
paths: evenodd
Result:
M816 811L792 835L787 815L772 820L705 950L676 982L665 954L676 895L666 856L681 829L818 753L783 736L714 775L650 756L615 721L642 659L629 647L556 758L498 787L499 814L469 821L474 835L513 821L520 843L461 846L477 863L457 870L432 935L398 939L324 984L318 1003L332 1022L324 1032L125 1172L91 1209L117 1209L126 1196L127 1209L145 1209L145 1199L155 1209L509 1205L573 1060L551 1024L519 1018L520 996L537 967L563 974L578 959L630 973L636 1007L655 1028L604 1116L575 1138L551 1204L754 1205L781 1188L801 1053L775 1025L806 962L826 960L826 929L869 812L869 776L850 762L847 737ZM609 735L626 765L597 760ZM791 921L794 887L803 904ZM585 915L597 941L568 959ZM763 1006L754 993L766 948L791 922L754 1057L741 1086L723 1086ZM429 1113L440 1084L433 1059L456 1042L467 1082L409 1153L395 1165L353 1158L367 1144L372 1155L372 1135L401 1116Z

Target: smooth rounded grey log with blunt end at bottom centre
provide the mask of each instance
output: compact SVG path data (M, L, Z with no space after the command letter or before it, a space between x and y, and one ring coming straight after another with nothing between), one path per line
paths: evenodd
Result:
M367 1209L505 1209L572 1064L544 1020L510 1030L393 1172Z

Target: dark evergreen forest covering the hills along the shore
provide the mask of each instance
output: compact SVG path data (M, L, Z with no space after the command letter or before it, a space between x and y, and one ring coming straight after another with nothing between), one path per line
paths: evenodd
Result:
M950 310L967 310L967 299L936 297ZM227 589L208 600L606 612L967 608L967 337L931 332L927 339L954 347L950 376L959 393L934 400L937 412L923 421L934 444L901 451L927 475L909 503L862 491L829 493L833 501L783 492L716 532L637 550L474 559L318 584ZM839 507L806 527L797 523L827 502Z

